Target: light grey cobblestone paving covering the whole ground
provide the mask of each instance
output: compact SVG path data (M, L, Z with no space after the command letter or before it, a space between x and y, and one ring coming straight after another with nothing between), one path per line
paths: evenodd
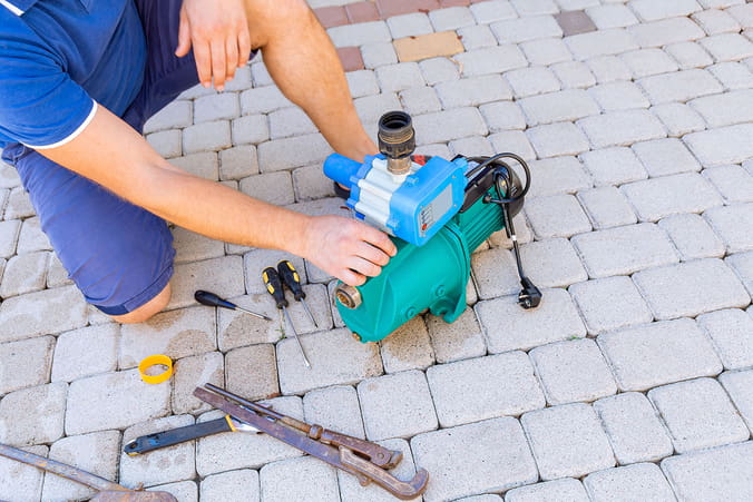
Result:
M0 441L182 501L391 500L265 436L120 453L216 416L190 396L213 382L403 450L398 475L429 470L427 501L753 500L753 4L311 3L371 131L404 108L422 152L530 160L518 227L541 307L515 305L509 243L493 236L457 323L418 318L363 345L330 279L294 260L325 326L292 307L305 370L276 323L192 298L205 288L276 316L258 273L282 255L175 228L169 312L119 326L85 305L2 167ZM185 93L147 137L253 196L340 210L321 174L329 147L261 61L224 93ZM149 386L135 367L155 353L176 373ZM87 494L0 460L0 500Z

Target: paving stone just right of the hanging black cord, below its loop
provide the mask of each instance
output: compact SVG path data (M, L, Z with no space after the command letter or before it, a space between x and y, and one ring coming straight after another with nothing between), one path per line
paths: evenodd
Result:
M525 211L538 239L570 237L591 229L588 217L571 195L552 195L526 200Z

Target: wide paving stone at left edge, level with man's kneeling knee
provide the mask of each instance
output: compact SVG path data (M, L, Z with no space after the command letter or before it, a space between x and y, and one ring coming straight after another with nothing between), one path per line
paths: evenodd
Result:
M6 299L0 305L0 341L55 334L86 325L87 306L75 286Z

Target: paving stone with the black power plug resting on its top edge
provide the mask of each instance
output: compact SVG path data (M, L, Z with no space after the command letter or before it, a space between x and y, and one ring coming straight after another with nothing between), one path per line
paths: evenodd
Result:
M586 336L578 311L564 289L542 289L535 309L524 309L517 296L503 296L476 305L489 353L529 348Z

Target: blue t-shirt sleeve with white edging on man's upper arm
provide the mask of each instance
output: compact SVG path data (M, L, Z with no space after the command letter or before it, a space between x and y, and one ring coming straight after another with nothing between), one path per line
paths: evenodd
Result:
M65 145L80 134L97 105L33 38L0 43L0 134L35 149Z

